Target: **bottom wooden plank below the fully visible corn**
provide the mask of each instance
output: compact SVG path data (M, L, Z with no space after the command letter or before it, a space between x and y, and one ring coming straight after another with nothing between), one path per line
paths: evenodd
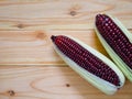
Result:
M1 66L0 99L131 99L127 80L114 96L106 96L69 67Z

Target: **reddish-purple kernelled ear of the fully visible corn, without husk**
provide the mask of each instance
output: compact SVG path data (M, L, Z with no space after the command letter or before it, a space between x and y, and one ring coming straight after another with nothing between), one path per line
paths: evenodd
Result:
M118 75L107 64L72 38L59 35L52 36L52 41L63 54L74 61L78 66L103 80L120 86Z

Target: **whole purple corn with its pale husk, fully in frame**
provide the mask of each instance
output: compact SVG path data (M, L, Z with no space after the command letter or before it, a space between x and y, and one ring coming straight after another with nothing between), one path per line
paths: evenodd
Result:
M74 37L51 37L55 51L75 72L107 95L113 95L124 84L123 74L101 53Z

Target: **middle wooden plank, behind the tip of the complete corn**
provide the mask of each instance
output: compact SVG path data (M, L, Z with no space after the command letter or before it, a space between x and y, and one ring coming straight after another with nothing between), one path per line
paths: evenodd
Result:
M1 65L64 65L54 52L51 35L72 35L107 55L94 30L0 31Z

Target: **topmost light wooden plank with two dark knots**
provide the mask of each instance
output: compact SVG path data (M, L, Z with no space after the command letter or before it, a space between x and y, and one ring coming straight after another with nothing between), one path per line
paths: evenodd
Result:
M0 30L92 29L97 13L119 18L128 29L131 0L2 0Z

